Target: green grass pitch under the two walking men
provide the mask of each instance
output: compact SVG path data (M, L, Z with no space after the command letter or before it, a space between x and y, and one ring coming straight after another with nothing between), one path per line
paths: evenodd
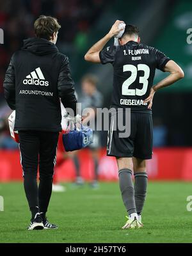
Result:
M65 186L66 192L52 193L47 214L58 230L28 231L22 183L0 184L0 242L192 242L192 212L186 210L192 183L150 182L140 230L121 229L126 212L118 183L100 183L98 190Z

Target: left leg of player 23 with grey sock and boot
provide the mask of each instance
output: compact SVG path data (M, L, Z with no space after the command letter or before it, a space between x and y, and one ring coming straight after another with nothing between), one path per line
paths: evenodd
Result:
M122 228L140 228L141 224L138 222L134 199L134 185L132 183L132 158L116 158L116 161L122 199L129 215L127 222Z

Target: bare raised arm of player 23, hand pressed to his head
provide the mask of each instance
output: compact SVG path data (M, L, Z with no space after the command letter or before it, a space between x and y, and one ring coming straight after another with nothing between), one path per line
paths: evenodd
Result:
M94 62L94 63L100 63L100 57L99 57L99 52L104 48L106 43L115 35L117 35L121 30L124 28L118 28L118 25L120 23L123 23L123 21L115 21L113 26L111 27L111 30L109 33L107 33L102 39L100 39L96 44L94 44L90 50L84 55L84 60L89 61L89 62Z

